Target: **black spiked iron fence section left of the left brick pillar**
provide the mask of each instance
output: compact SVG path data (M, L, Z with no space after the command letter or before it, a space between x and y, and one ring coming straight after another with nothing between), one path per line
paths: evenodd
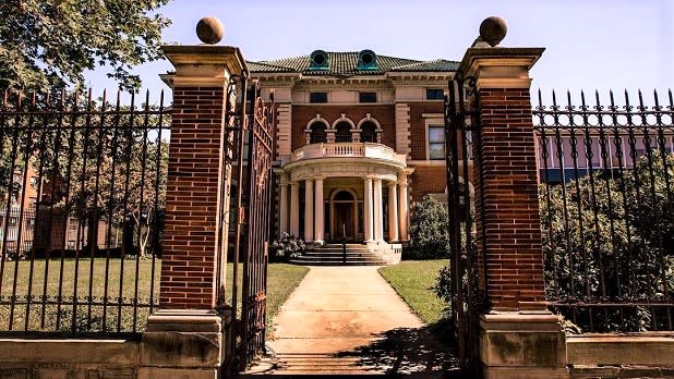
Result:
M158 304L163 96L2 95L0 331L141 331Z

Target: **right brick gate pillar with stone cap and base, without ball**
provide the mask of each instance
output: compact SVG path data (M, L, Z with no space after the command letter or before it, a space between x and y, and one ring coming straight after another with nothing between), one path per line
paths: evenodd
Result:
M567 377L564 333L545 306L530 103L529 71L544 49L480 45L460 66L476 77L480 106L473 143L481 163L473 178L483 207L477 207L476 240L490 309L476 322L477 354L485 378Z

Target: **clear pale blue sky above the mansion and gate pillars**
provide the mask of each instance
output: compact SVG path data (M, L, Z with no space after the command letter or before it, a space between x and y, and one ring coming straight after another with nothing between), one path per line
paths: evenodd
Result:
M173 0L160 12L172 20L166 42L198 44L194 27L218 17L226 37L246 60L308 54L312 50L359 51L411 59L460 60L482 20L508 23L502 46L545 47L531 72L533 88L578 91L673 87L672 0ZM159 73L168 62L139 68L144 86L166 88ZM97 88L115 88L100 72Z

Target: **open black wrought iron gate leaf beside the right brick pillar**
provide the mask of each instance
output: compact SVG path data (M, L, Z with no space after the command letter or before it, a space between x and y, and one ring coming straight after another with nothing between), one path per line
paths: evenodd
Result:
M479 267L483 260L478 252L483 244L476 241L474 210L480 200L471 194L469 182L479 182L480 149L473 137L480 133L478 97L474 78L465 78L459 71L449 82L449 98L445 97L445 152L447 169L447 203L449 211L452 316L457 355L461 369L474 371L477 365L476 310L484 299L485 278ZM470 101L466 97L470 96ZM479 139L474 139L476 142ZM477 169L477 170L476 170Z

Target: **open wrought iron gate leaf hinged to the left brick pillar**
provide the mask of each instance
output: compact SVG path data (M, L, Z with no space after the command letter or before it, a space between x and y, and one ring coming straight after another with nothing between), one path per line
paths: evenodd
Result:
M266 332L274 106L273 99L264 103L256 82L252 88L248 85L245 77L234 78L228 91L231 107L228 107L227 123L234 132L230 140L236 140L238 157L232 173L236 198L229 207L236 218L230 281L233 322L228 333L234 370L245 369L262 354ZM238 88L241 94L237 94ZM237 97L239 106L236 106ZM240 266L243 272L239 272Z

